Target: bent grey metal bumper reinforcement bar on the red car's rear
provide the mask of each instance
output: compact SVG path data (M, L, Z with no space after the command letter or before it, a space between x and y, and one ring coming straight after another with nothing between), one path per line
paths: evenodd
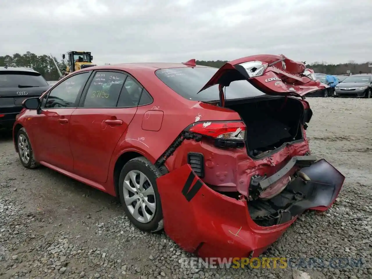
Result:
M277 173L273 174L270 177L266 176L259 176L253 178L250 183L250 196L253 199L257 199L258 196L263 192L264 189L272 185L273 183L277 182L278 180L282 179L294 166L302 166L302 167L309 167L312 163L317 160L317 157L312 155L305 155L305 156L294 156L289 160L288 163L282 169L280 169Z

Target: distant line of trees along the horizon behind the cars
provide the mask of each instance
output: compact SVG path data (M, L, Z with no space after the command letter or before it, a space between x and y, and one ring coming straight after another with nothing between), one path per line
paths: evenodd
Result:
M66 64L63 60L57 60L60 70L66 68ZM197 60L196 64L205 65L209 67L219 68L224 65L227 61L217 60L217 61L203 61ZM50 55L36 55L32 52L26 52L25 54L15 53L13 55L0 56L0 67L7 65L8 67L28 67L33 68L35 71L41 73L44 78L48 81L58 80L60 77L58 71L53 63L52 57ZM371 68L368 67L368 63L358 64L355 61L350 60L348 63L344 64L327 64L327 62L314 62L308 64L307 67L312 68L315 73L324 74L346 74L346 71L350 71L353 74L358 73L370 73Z

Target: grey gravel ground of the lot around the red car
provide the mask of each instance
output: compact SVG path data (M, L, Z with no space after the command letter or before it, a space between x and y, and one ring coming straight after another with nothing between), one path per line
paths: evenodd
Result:
M372 278L372 100L308 98L314 155L345 176L325 214L308 212L265 256L362 258L356 268L305 270L311 278ZM286 269L188 269L164 233L134 228L115 198L41 167L27 170L0 137L1 278L292 278ZM327 266L328 262L325 262Z

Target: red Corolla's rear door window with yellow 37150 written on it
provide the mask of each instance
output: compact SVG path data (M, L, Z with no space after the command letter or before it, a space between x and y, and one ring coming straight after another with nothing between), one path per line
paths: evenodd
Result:
M122 90L126 74L97 72L89 85L84 108L115 108Z

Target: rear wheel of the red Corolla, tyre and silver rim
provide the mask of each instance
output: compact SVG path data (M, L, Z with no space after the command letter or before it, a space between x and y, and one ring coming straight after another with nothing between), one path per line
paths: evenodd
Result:
M160 171L145 157L129 160L120 173L119 197L129 220L142 231L163 229L156 179Z

